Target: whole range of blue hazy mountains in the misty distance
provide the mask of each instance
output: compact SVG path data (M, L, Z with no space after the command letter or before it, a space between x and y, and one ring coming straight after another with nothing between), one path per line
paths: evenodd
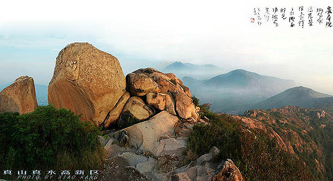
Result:
M191 65L175 62L166 67L170 72L177 73L193 70L194 66ZM195 69L204 70L205 66L196 65ZM192 71L192 74L195 75L196 72ZM281 108L286 105L305 108L333 105L333 97L330 95L303 86L296 87L297 83L293 80L259 75L241 69L209 79L195 78L201 74L202 72L181 79L184 85L190 87L192 95L198 97L201 103L211 103L215 112L237 115L250 109Z

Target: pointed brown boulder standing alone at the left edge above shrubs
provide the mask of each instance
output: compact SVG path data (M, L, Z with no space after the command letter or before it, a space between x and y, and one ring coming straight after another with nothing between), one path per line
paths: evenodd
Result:
M32 77L22 76L0 92L0 113L25 114L37 108L35 84Z

